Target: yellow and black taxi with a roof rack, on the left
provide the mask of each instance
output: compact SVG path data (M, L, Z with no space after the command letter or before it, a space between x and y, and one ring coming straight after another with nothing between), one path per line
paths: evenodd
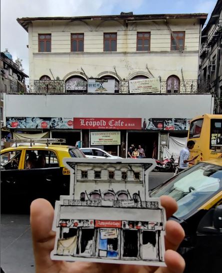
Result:
M60 195L69 194L69 170L62 159L85 155L77 147L62 145L62 139L34 141L16 140L15 147L0 152L2 211L21 206L28 209L36 198L53 203Z

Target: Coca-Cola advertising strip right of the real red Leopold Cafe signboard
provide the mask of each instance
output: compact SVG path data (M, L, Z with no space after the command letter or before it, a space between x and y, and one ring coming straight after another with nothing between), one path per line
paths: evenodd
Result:
M144 118L142 130L186 131L189 128L189 118Z

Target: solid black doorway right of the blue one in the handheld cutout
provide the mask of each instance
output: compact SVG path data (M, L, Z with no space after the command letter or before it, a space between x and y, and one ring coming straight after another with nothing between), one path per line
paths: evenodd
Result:
M138 257L138 231L123 230L123 257Z

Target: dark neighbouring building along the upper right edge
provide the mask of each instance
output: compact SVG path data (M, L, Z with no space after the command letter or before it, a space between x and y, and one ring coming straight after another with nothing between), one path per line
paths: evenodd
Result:
M217 0L207 25L202 30L199 79L209 81L214 95L214 112L222 113L222 0Z

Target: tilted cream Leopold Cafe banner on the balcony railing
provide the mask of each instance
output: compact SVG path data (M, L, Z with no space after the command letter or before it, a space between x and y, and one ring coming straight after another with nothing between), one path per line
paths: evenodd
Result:
M129 80L129 93L160 92L159 78Z

